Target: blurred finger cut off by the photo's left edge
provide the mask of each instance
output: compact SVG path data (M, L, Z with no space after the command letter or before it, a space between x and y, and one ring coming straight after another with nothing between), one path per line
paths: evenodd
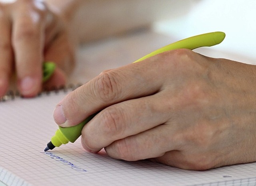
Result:
M0 97L3 96L10 84L13 70L10 22L1 14L0 7Z

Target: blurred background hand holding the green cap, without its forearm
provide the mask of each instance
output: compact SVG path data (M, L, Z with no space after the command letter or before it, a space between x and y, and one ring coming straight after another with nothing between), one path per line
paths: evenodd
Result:
M74 47L67 25L42 0L0 3L0 97L16 73L17 87L25 97L42 89L42 62L57 64L46 87L64 85L72 68Z

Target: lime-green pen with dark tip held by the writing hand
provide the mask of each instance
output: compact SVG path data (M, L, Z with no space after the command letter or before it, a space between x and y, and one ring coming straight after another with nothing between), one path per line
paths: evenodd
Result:
M186 49L196 49L198 47L204 47L204 46L214 46L217 44L220 44L225 38L224 32L211 32L207 34L201 34L198 36L193 36L190 38L186 38L184 40L180 40L178 42L175 42L173 44L170 44L168 46L162 47L156 51L153 51L152 53L149 53L148 55L134 61L142 61L148 57L152 57L158 53L162 53L164 51L170 51L173 49L180 49L180 48L186 48ZM68 142L75 142L78 137L81 135L82 128L86 123L88 123L97 113L90 115L88 118L86 118L84 121L82 121L80 124L73 126L73 127L59 127L59 129L56 131L55 135L52 137L51 141L48 142L47 147L44 149L44 151L52 150L55 147L59 147L61 144L66 144Z

